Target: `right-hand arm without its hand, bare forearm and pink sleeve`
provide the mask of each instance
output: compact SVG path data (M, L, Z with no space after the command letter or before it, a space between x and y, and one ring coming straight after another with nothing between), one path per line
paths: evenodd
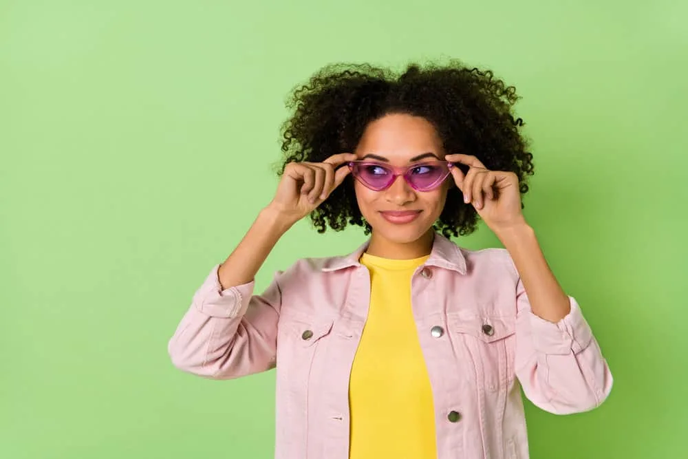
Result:
M532 228L512 226L497 236L520 275L515 370L524 393L554 414L597 407L613 379L577 302L563 292Z

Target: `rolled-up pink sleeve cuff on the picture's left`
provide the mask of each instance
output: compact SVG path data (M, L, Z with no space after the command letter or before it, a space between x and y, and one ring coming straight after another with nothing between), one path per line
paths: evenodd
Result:
M193 305L198 311L211 317L232 319L243 316L248 309L255 281L222 290L217 274L219 266L213 266L211 273L196 291Z

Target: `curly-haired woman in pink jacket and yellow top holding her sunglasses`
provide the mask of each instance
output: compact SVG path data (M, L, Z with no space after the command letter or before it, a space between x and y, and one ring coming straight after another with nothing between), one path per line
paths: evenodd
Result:
M276 457L528 458L520 387L557 414L612 376L522 214L532 156L513 87L451 63L330 66L298 88L275 198L213 267L169 343L180 369L277 367ZM343 257L255 274L309 215L363 226ZM449 240L477 218L505 249Z

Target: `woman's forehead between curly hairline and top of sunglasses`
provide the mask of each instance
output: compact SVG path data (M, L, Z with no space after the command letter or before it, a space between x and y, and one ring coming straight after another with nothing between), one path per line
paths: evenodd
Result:
M391 114L367 125L356 154L376 154L405 160L421 153L442 153L442 140L433 125L419 116Z

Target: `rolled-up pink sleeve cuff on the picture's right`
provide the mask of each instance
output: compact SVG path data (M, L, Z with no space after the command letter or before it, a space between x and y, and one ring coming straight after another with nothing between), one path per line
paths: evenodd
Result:
M533 330L533 342L539 352L559 355L571 352L578 354L592 341L592 330L585 321L577 301L572 297L569 297L569 301L570 312L557 323L546 321L533 312L528 312Z

